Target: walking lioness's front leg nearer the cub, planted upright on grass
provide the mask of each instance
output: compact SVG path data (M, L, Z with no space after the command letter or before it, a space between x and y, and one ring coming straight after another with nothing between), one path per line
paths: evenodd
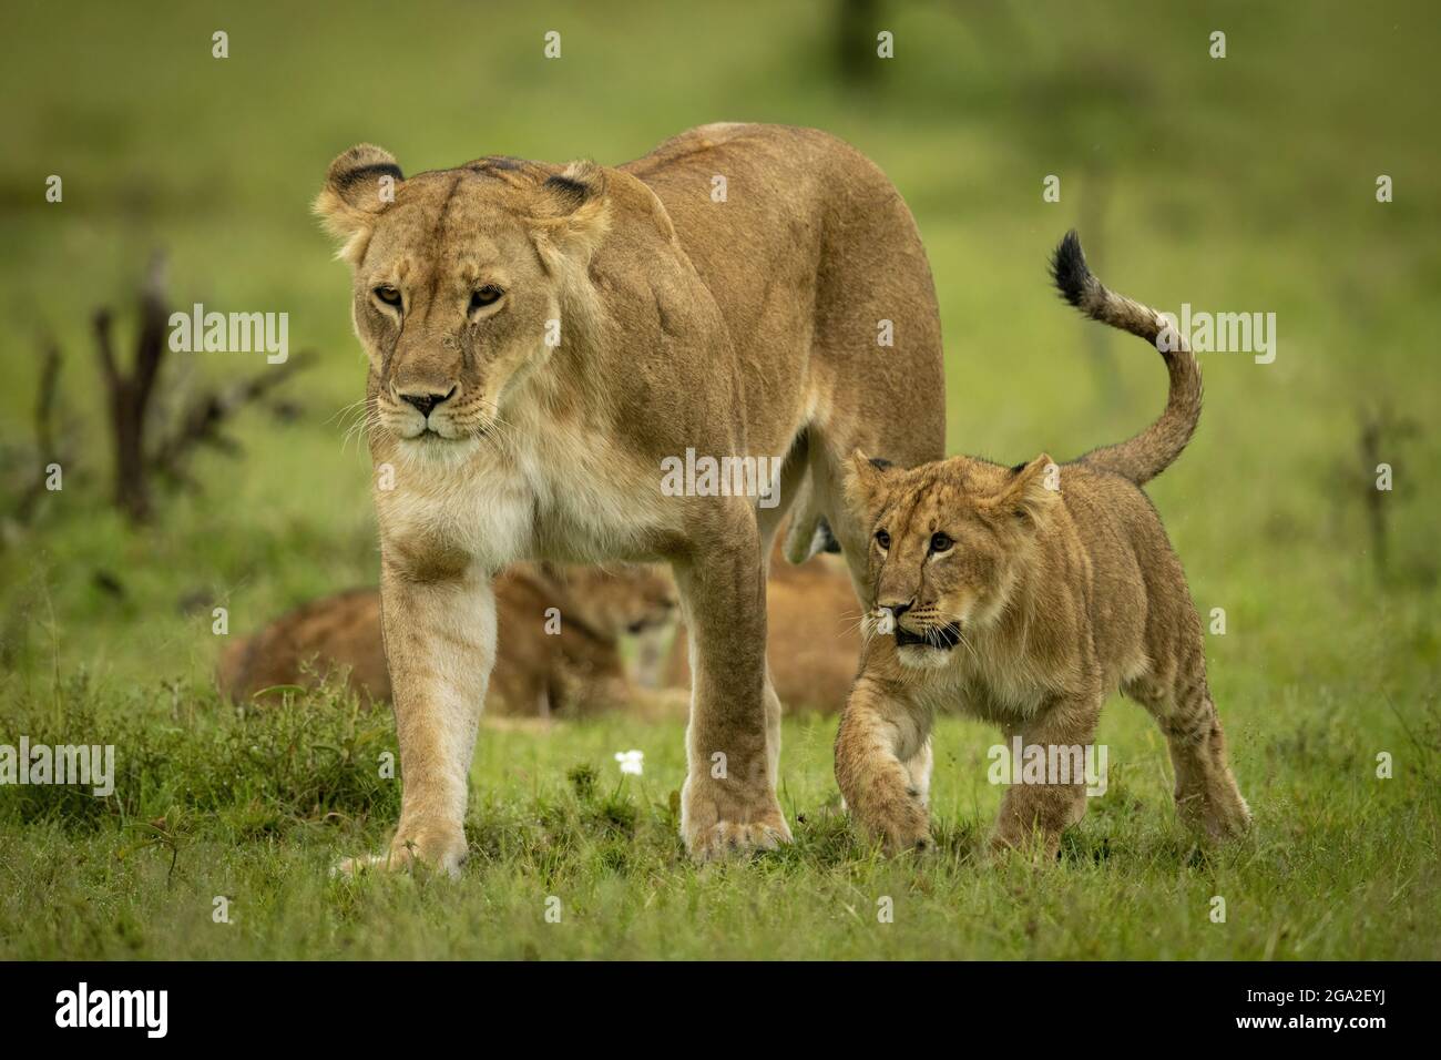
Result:
M690 632L689 769L680 832L697 861L772 849L791 831L775 799L780 701L765 675L765 580L746 506L676 562Z

